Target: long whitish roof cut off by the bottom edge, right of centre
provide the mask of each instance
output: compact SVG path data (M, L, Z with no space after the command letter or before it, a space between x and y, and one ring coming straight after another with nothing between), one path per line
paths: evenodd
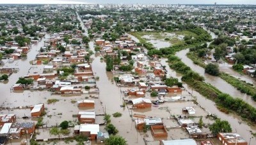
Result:
M194 139L177 139L177 140L169 140L169 141L160 141L160 145L196 145L196 141Z

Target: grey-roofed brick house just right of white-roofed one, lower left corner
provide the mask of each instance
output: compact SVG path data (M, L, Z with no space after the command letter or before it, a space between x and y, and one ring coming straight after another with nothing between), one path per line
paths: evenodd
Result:
M33 122L22 122L15 123L12 128L21 128L23 134L32 134L35 131L35 123Z

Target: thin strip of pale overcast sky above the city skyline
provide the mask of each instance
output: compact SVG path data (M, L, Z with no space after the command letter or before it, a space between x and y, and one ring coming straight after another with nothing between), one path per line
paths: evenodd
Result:
M0 4L79 4L79 3L109 3L109 4L256 4L256 0L0 0Z

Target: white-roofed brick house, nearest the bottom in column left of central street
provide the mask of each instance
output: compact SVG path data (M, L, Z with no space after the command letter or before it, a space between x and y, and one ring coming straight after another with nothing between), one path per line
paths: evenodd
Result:
M90 137L91 140L95 140L98 132L100 131L99 125L94 124L81 124L79 128L79 134L86 137Z

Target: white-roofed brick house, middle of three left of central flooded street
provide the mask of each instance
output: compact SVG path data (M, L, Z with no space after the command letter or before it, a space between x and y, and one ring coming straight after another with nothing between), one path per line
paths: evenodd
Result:
M78 111L78 121L81 123L95 123L95 112Z

